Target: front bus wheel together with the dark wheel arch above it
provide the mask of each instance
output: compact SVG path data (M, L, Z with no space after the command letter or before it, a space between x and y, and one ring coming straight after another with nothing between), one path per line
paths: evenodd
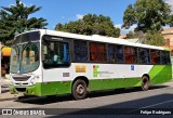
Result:
M84 76L77 77L71 84L71 95L75 100L83 100L88 94L89 79Z

